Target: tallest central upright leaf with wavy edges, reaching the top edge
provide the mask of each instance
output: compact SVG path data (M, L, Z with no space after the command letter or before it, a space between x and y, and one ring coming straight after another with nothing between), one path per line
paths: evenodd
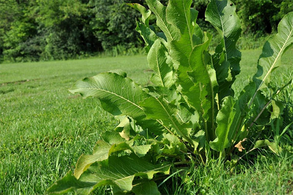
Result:
M170 56L178 61L178 84L188 103L198 112L199 93L193 91L194 83L188 77L187 72L192 71L189 60L195 45L202 43L202 31L195 23L198 12L190 9L192 0L170 0L167 6L167 21L180 30L180 39L170 42ZM197 102L194 102L197 101Z

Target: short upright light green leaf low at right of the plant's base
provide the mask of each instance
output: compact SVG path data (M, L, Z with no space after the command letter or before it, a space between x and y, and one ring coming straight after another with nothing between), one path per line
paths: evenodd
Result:
M236 109L234 108L235 100L228 96L223 99L222 109L219 111L216 121L216 138L209 142L210 148L218 152L222 152L225 148L228 148L231 144L233 131L235 127L232 126L233 119L236 114Z

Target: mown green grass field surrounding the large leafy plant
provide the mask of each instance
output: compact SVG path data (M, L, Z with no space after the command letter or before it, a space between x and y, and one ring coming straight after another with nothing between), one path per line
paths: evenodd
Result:
M233 88L239 92L256 71L260 50L242 51L241 69ZM282 58L272 83L292 77L293 48ZM112 69L123 69L147 84L151 72L146 56L0 64L0 195L43 194L78 157L90 154L99 134L117 121L95 98L68 92L73 83ZM261 152L261 151L260 151ZM290 194L293 157L277 158L262 151L238 174L225 167L193 168L183 184L173 179L166 194ZM169 181L171 182L171 180ZM110 193L109 187L97 194Z

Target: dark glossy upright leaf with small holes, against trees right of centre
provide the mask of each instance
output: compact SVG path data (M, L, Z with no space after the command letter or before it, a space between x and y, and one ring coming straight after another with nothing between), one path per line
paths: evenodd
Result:
M206 20L217 29L222 38L213 55L221 101L228 95L233 96L231 85L240 73L241 53L236 49L236 41L241 34L241 24L230 0L211 0L206 10Z

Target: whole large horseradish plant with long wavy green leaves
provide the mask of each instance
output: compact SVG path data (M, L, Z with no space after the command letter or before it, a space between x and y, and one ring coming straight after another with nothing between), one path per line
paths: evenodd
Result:
M282 88L270 97L262 91L273 90L270 74L293 43L293 12L265 43L257 73L236 97L231 85L240 73L241 52L235 45L241 25L233 3L209 2L206 20L222 38L211 54L212 36L196 23L192 0L169 0L167 7L158 0L146 2L149 10L136 3L129 6L142 14L136 30L146 41L153 84L142 87L121 70L75 84L70 92L98 98L107 112L119 116L120 124L103 133L93 154L82 155L74 173L69 171L47 194L89 194L102 185L112 185L113 194L160 194L155 181L191 162L207 165L243 155L243 142L264 114L274 125L281 124L283 107L273 96ZM151 13L161 32L149 24ZM265 125L259 122L254 129ZM254 148L264 145L277 154L281 150L269 140L258 140Z

